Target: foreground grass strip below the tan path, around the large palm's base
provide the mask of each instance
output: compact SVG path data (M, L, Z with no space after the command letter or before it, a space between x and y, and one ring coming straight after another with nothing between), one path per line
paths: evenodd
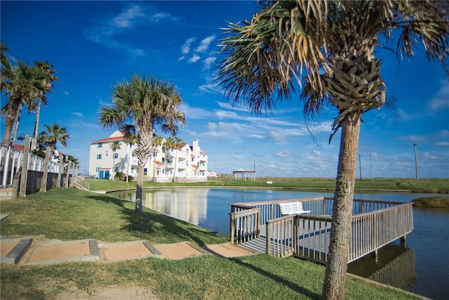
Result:
M1 299L52 299L67 290L83 298L111 285L152 287L159 299L321 299L323 278L322 266L264 254L2 266ZM346 286L347 299L419 299L350 277Z

